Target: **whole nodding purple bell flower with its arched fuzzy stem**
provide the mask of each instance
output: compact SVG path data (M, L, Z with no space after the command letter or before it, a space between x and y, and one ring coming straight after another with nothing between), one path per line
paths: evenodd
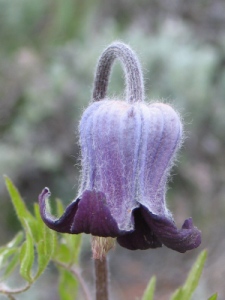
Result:
M111 65L122 61L127 101L109 100ZM182 140L179 115L167 104L143 101L143 79L133 51L110 45L100 58L94 102L80 121L82 180L79 196L59 219L46 211L50 191L39 196L40 212L58 232L117 238L130 250L161 247L185 252L201 243L192 219L175 225L166 207L169 171Z

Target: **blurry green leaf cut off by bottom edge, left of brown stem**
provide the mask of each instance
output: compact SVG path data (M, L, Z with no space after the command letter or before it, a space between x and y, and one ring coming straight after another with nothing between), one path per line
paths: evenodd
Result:
M78 291L77 279L66 269L59 268L59 296L61 300L74 300Z

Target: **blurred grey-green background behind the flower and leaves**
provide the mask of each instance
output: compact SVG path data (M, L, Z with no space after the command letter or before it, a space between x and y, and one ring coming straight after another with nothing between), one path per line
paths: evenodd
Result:
M77 126L91 99L97 59L114 40L128 43L143 66L149 101L182 115L185 142L167 202L181 226L192 216L199 249L112 251L112 299L138 299L152 275L166 300L203 248L209 251L195 299L225 286L225 2L223 0L0 0L0 243L18 230L4 186L7 174L27 205L44 186L69 203L77 193ZM109 95L123 96L117 63ZM85 246L86 245L86 246ZM81 261L91 284L90 245ZM40 291L40 286L42 286ZM57 300L51 268L32 288L34 300ZM29 299L30 291L22 298ZM1 297L1 296L0 296ZM82 299L82 296L81 296Z

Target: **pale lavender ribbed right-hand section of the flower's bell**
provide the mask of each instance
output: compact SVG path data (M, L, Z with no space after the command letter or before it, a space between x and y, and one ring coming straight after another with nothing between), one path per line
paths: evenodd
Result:
M181 143L181 122L176 112L163 103L144 109L140 150L139 202L153 214L166 215L166 181Z

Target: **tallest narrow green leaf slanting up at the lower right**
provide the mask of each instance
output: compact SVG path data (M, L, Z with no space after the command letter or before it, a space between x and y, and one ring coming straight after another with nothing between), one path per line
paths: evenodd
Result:
M193 292L198 286L206 258L207 252L202 251L198 256L194 266L192 267L185 284L183 285L183 287L175 291L175 293L171 297L171 300L191 299Z

